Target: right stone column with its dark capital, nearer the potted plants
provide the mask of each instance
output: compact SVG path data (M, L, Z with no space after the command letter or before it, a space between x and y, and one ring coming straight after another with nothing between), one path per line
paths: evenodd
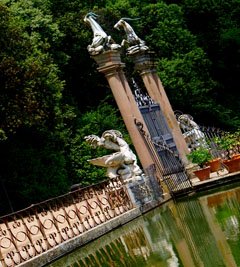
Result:
M131 58L135 63L135 69L140 72L148 94L156 103L160 105L168 127L173 135L179 156L182 159L183 163L187 165L189 163L186 157L186 155L189 153L188 147L184 140L166 92L162 86L161 80L157 75L151 54L153 53L137 52L131 55Z

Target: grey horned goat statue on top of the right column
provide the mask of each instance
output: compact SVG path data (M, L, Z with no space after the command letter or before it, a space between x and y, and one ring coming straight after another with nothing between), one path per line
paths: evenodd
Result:
M149 48L145 45L145 42L141 40L136 33L134 32L133 28L126 22L126 20L131 21L134 19L129 18L121 18L115 25L115 29L120 29L122 27L127 35L127 40L123 39L121 46L128 45L127 54L134 54L139 51L145 51Z

